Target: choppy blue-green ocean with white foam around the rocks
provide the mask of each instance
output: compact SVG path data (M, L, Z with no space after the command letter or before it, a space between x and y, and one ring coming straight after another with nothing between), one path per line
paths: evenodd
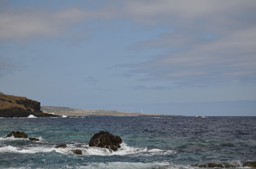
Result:
M12 131L40 141L5 138ZM120 136L121 148L89 147L99 131ZM58 144L67 147L55 149ZM256 117L0 118L0 168L248 168L247 161L256 161Z

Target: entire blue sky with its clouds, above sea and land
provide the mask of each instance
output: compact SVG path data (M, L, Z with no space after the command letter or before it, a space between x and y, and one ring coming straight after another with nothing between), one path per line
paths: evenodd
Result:
M0 92L41 106L256 115L255 0L0 0Z

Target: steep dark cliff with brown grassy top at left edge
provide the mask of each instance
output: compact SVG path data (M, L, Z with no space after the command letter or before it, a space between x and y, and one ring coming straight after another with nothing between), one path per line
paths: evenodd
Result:
M12 96L0 92L0 117L26 118L28 115L36 117L51 117L40 111L40 102L33 101L23 96Z

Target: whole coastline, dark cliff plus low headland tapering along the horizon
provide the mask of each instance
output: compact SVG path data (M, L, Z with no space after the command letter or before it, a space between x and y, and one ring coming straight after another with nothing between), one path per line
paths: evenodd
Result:
M105 111L68 108L59 106L40 106L40 102L28 99L24 96L13 96L0 92L0 117L2 118L28 118L34 117L87 117L90 115L107 116L140 116L140 115L163 115L134 113L128 111ZM176 116L176 115L168 115Z

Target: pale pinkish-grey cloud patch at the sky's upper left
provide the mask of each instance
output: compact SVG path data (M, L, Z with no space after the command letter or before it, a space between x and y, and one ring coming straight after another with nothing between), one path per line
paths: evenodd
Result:
M1 12L0 40L59 34L83 18L85 13L76 8L62 11L28 9Z

